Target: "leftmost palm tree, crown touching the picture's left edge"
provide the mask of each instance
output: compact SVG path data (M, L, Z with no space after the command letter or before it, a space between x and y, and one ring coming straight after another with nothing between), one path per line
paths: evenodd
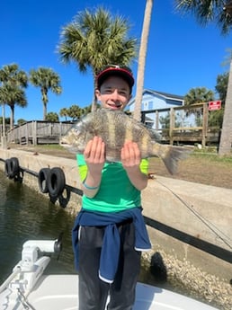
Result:
M27 87L28 77L26 73L19 69L17 64L3 66L0 69L1 95L0 102L3 104L3 127L4 127L4 104L8 104L11 109L11 123L14 123L15 104L25 107L27 105L24 89Z

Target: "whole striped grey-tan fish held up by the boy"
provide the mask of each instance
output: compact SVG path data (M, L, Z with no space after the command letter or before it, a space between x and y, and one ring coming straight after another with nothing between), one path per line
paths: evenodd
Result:
M105 143L105 156L108 162L120 161L120 150L125 141L138 144L142 158L160 157L169 171L176 173L177 163L190 154L183 146L162 145L156 135L138 120L123 111L99 109L85 115L61 137L60 145L69 152L83 154L87 142L94 136L102 137Z

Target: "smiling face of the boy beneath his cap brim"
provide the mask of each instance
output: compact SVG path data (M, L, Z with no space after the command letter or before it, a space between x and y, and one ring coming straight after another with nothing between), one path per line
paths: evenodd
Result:
M123 110L131 98L129 84L115 75L106 78L95 94L103 108L114 110Z

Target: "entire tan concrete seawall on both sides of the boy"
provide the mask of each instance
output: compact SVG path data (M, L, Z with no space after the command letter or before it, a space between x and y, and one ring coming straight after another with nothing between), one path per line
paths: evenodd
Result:
M67 185L80 189L75 160L0 148L1 170L4 170L4 160L12 157L18 158L20 167L24 170L22 182L38 192L40 189L37 173L45 167L61 168L65 173ZM231 252L232 190L156 176L156 179L149 180L142 198L144 216L154 220L156 226L165 227L169 232L166 234L165 230L148 226L154 251L162 248L177 260L190 261L197 268L227 283L230 281L231 261L202 251L192 246L187 239L193 238L195 243L199 241L200 244L214 244L226 252ZM76 214L80 203L81 196L72 191L67 203L67 212ZM174 235L184 233L185 240L176 239L172 231Z

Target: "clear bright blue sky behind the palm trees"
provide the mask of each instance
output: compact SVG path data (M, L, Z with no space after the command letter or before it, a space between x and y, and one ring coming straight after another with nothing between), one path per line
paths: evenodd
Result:
M49 92L48 112L92 102L93 76L78 72L75 63L63 65L56 52L61 28L72 22L85 8L103 5L112 14L120 14L131 24L130 35L141 36L146 0L133 1L49 1L1 0L0 67L17 63L22 70L40 66L52 68L61 79L62 94ZM231 34L221 36L213 24L201 27L193 16L174 12L174 0L155 0L147 46L144 88L185 95L191 88L207 87L215 91L217 76L228 71L222 63L231 48ZM137 75L137 61L132 63ZM136 87L133 94L136 93ZM42 120L40 89L29 85L27 108L15 106L15 122ZM2 111L0 111L2 116ZM10 116L8 107L5 116ZM60 120L64 120L60 118Z

